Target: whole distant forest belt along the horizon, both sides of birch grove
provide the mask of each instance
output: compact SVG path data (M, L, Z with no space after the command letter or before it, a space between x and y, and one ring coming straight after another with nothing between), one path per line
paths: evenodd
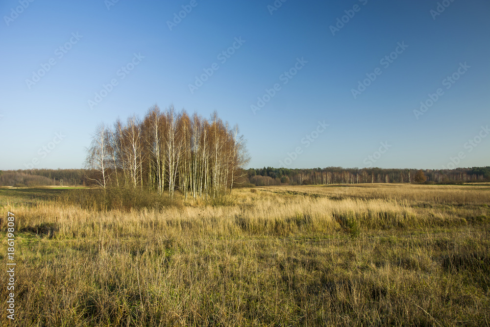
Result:
M423 170L429 184L490 182L489 167L457 168L453 170ZM410 183L416 169L342 168L288 169L264 167L248 169L236 187L253 185L307 185L355 183ZM88 169L32 169L0 171L0 186L91 186L96 185Z

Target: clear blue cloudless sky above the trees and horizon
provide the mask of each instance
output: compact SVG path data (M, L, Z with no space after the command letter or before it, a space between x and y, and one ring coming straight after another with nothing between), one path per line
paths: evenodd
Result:
M98 123L155 103L238 123L249 167L490 165L488 0L2 0L0 14L0 169L81 168Z

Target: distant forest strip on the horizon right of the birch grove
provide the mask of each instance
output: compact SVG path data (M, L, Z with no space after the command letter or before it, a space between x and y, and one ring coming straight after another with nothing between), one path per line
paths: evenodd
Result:
M428 182L485 182L490 181L490 167L457 168L453 170L421 170ZM342 168L288 169L264 167L248 169L255 185L354 184L354 183L411 183L415 169Z

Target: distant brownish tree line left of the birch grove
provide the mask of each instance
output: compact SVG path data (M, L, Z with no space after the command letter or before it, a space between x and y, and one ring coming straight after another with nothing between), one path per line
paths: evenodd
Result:
M85 185L85 169L30 169L0 171L0 186Z

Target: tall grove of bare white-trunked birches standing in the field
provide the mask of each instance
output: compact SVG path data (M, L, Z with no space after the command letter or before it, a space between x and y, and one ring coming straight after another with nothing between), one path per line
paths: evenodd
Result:
M194 198L231 191L248 160L238 126L216 112L208 120L173 106L161 111L155 105L141 120L101 124L87 149L90 178L101 187L141 187L171 197L175 190Z

